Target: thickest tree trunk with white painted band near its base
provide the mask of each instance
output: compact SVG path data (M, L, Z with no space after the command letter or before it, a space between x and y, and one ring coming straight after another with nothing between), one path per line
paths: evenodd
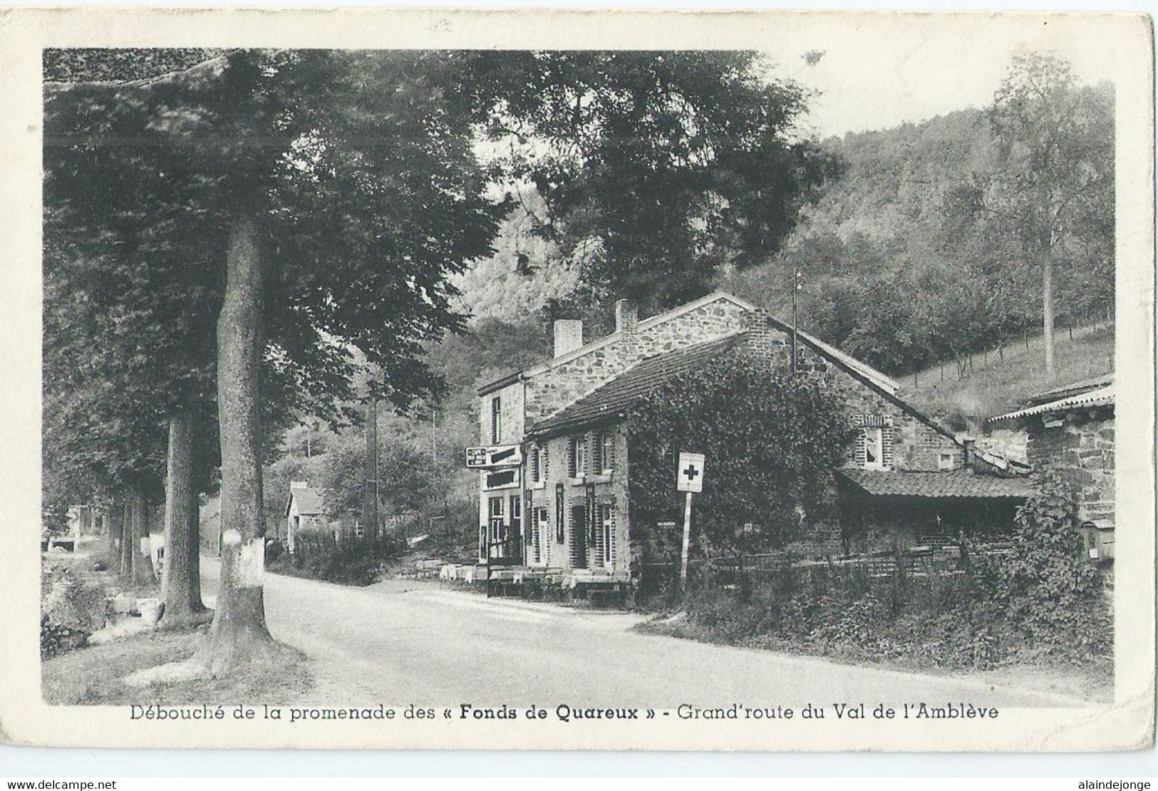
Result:
M262 578L259 373L264 336L263 261L257 222L242 213L229 229L226 287L218 317L221 431L221 583L213 625L195 661L210 673L250 667L274 644L265 627Z

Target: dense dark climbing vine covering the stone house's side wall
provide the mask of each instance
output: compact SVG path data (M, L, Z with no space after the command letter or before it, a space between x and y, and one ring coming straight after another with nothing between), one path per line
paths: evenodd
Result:
M682 374L628 416L631 522L644 562L679 555L681 452L706 455L694 500L695 554L765 551L828 518L831 471L852 441L849 410L822 380L730 354ZM742 534L746 523L752 530Z

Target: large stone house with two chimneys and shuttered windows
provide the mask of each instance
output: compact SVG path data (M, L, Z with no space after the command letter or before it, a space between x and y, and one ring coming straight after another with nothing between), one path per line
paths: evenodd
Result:
M479 474L479 561L625 579L632 571L626 412L672 378L725 354L786 368L791 338L790 327L724 292L644 321L621 301L615 332L588 344L579 322L556 322L550 360L478 390L481 442L521 453L519 467ZM897 397L895 381L806 332L797 339L797 369L837 388L858 429L834 486L841 523L816 536L818 551L846 551L874 530L907 532L909 542L923 532L948 535L979 504L994 511L982 521L996 523L1024 500L1024 481L996 475Z

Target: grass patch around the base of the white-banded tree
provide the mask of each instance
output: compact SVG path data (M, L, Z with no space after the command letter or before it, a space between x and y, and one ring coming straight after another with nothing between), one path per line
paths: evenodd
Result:
M217 678L130 687L125 676L182 661L197 650L207 627L151 631L96 645L42 662L42 689L50 705L130 705L132 703L271 703L299 700L313 688L305 654L280 646L278 658L262 667Z

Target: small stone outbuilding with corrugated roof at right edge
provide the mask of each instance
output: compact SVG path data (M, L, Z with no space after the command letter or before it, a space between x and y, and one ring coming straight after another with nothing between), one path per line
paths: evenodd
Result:
M1104 559L1114 541L1114 375L1073 382L1028 400L1024 409L990 418L992 432L1024 437L1026 459L1053 470L1078 496L1078 518L1091 522Z

